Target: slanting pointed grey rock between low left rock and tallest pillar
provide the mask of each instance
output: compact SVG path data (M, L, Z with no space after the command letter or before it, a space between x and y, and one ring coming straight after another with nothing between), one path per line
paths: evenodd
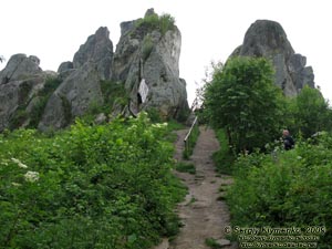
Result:
M101 81L110 77L113 44L107 28L100 28L80 46L73 62L59 66L61 85L50 97L39 128L62 128L92 104L102 104Z

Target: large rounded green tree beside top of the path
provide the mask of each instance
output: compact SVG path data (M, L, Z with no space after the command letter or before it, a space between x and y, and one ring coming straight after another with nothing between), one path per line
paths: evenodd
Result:
M283 96L272 79L267 59L240 56L217 69L206 86L207 115L238 152L263 147L279 133Z

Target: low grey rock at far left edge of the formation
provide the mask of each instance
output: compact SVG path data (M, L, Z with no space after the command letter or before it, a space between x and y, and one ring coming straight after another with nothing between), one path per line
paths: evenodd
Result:
M43 72L37 56L14 54L0 72L0 132L8 127L29 125L29 114L37 93L46 77L54 72Z

